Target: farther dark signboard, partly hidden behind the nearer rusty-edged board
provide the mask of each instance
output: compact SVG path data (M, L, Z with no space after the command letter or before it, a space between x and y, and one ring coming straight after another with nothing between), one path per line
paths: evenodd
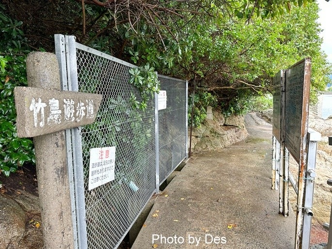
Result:
M284 80L284 71L280 71L273 77L273 119L272 134L280 142L281 141L281 103L282 103L282 84Z

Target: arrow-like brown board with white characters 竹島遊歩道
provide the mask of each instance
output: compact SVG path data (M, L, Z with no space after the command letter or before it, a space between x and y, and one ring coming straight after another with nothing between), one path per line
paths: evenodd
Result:
M35 137L92 124L102 95L32 87L14 90L17 136Z

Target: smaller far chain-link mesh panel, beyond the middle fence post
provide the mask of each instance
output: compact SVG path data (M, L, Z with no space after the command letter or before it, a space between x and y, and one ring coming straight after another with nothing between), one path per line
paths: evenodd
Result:
M158 75L167 107L158 111L159 179L162 184L186 157L186 81Z

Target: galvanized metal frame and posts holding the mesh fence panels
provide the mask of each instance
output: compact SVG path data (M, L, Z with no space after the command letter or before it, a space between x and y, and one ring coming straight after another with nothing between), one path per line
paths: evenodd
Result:
M115 57L104 54L93 48L86 47L76 42L75 36L68 36L62 34L55 34L55 51L56 57L59 62L60 67L60 77L62 90L79 92L78 88L78 71L77 71L77 49L84 50L89 53L93 53L96 56L101 56L106 59L110 59L113 62L121 63L129 67L136 67L128 62L121 61ZM157 76L158 73L156 72ZM167 77L168 78L168 77ZM176 79L176 78L171 78ZM181 80L185 85L186 100L185 100L185 158L182 159L182 163L185 159L188 159L188 80ZM154 193L159 194L159 141L158 141L158 94L155 93L155 146L156 146L156 188L155 191L151 193L148 200L151 199ZM70 181L70 198L71 198L71 211L72 211L72 222L74 227L74 247L79 249L88 248L87 239L87 225L86 225L86 203L85 203L85 192L84 192L84 174L83 174L83 153L82 153L82 136L81 128L76 127L73 129L65 130L65 143L67 147L67 162L69 171L69 181ZM180 164L179 163L179 164ZM179 165L178 164L178 165ZM172 169L172 172L175 170ZM172 173L171 172L171 173ZM142 210L147 205L148 201L142 206L142 209L138 212L138 215L131 222L126 233L131 229L134 222L141 215ZM122 236L122 239L126 236L126 233ZM122 239L118 241L119 246Z

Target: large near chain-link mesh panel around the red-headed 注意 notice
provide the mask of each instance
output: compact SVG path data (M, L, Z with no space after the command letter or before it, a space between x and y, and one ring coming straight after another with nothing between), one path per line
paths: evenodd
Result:
M89 52L88 52L89 51ZM103 100L94 124L81 129L87 244L89 249L116 248L156 187L154 98L146 110L132 107L130 66L110 56L77 49L79 92ZM115 179L88 190L91 148L116 147Z

